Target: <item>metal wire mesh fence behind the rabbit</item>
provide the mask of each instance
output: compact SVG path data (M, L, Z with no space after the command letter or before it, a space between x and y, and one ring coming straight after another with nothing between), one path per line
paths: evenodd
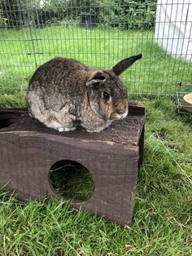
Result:
M121 75L129 95L190 91L191 28L191 0L0 0L0 92L56 56L110 68L141 52Z

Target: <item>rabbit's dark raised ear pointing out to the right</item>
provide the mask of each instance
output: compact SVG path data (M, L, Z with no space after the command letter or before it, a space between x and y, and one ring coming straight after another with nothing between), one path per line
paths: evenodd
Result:
M116 74L116 76L119 76L121 73L124 72L125 69L129 68L136 60L139 59L142 59L141 53L139 55L133 55L129 58L121 60L112 68L112 71Z

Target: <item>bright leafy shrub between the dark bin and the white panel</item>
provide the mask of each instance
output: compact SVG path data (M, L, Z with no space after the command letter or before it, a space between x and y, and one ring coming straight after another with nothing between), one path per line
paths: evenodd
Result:
M155 24L155 7L154 0L106 0L99 11L99 22L122 29L152 29Z

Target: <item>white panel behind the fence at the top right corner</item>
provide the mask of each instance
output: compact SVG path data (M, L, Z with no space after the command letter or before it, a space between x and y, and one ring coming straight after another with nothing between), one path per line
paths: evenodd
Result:
M192 1L158 0L155 42L171 55L192 58Z

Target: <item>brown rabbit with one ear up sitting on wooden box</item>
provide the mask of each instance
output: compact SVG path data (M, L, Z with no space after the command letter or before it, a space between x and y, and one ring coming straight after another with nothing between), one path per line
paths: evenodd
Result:
M37 68L26 94L28 112L55 130L100 132L128 114L128 96L118 77L142 54L100 69L72 59L55 58Z

